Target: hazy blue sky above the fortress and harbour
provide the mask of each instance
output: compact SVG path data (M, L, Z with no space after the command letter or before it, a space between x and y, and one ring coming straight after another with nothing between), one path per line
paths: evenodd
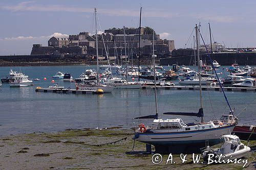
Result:
M201 24L201 34L228 47L256 47L256 1L0 1L0 55L29 55L33 44L47 46L53 35L79 32L94 34L94 8L100 28L151 27L160 38L174 40L176 48L193 46L193 32ZM201 41L202 42L202 41Z

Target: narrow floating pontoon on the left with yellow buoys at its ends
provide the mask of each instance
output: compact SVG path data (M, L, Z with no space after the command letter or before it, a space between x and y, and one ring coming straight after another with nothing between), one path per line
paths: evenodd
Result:
M48 89L48 88L35 89L35 91L36 92L53 92L53 93L73 93L73 94L102 94L103 93L97 90Z

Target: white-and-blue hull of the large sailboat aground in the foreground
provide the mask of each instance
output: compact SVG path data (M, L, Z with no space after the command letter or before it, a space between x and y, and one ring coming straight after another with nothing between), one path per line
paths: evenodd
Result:
M170 133L136 133L137 140L155 146L156 153L188 154L201 153L201 148L221 143L222 135L230 134L235 125Z

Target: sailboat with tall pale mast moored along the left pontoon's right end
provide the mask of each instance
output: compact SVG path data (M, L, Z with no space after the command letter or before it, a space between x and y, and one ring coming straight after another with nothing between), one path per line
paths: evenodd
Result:
M95 36L96 36L96 55L97 55L97 73L96 73L96 77L97 77L97 82L86 82L83 81L82 83L76 83L76 89L77 90L98 90L101 89L103 90L103 92L112 92L114 87L113 86L109 86L109 85L103 85L99 83L99 57L98 57L98 33L97 33L97 10L96 8L94 9L95 11Z

